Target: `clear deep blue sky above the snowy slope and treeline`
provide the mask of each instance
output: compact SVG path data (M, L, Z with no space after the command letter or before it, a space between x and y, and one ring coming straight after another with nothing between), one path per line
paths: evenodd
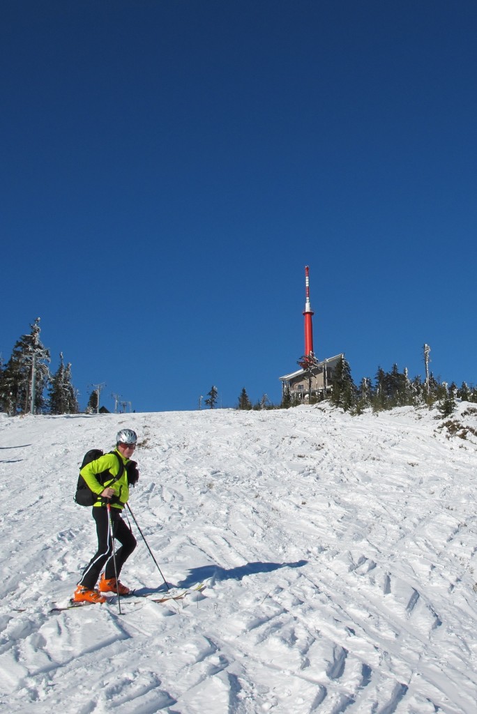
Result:
M4 0L0 351L85 406L278 402L303 354L477 383L474 0Z

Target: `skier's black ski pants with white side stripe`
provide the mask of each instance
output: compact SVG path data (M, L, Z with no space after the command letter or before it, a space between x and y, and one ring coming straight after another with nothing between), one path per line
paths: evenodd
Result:
M129 528L121 518L119 508L110 508L109 513L106 506L95 506L91 510L93 511L93 518L96 521L98 551L93 558L91 558L88 567L83 573L83 577L79 581L79 585L83 585L84 588L88 588L89 590L94 590L105 564L104 577L106 580L116 577L114 558L112 557L114 542L111 540L109 513L111 513L113 538L119 540L119 543L121 543L121 548L116 550L115 553L118 578L119 573L121 573L121 568L134 548L136 548L137 543L136 538L134 538L134 535L131 533L131 528Z

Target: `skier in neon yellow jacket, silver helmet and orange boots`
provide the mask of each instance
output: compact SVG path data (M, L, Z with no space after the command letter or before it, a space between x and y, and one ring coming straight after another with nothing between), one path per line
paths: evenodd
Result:
M121 518L121 511L129 498L129 485L134 486L139 478L136 461L130 460L136 443L136 432L132 429L121 429L116 434L114 452L105 453L96 461L87 463L80 471L91 491L98 495L92 508L93 518L96 521L98 550L91 558L73 595L73 600L77 603L104 603L107 598L101 593L129 595L131 592L126 585L119 582L119 573L126 559L136 548L136 538ZM121 476L117 478L121 473L119 459L124 469ZM109 471L111 479L108 478L105 483L100 483L96 474L104 471ZM111 538L111 531L113 538ZM121 548L115 554L114 538L121 543ZM103 568L104 573L101 574L99 590L97 590L96 583Z

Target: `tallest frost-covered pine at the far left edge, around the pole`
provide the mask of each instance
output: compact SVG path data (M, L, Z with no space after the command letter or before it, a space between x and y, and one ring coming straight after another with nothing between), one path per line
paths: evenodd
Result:
M1 375L0 408L11 416L37 413L45 406L43 393L51 380L46 364L50 353L41 343L39 322L36 318L31 333L16 341Z

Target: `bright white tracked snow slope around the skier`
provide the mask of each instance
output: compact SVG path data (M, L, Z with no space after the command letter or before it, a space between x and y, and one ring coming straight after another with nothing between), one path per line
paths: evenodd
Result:
M96 550L81 458L126 426L160 571L131 521L121 580L206 590L51 613ZM468 403L0 416L0 710L476 714L476 433Z

